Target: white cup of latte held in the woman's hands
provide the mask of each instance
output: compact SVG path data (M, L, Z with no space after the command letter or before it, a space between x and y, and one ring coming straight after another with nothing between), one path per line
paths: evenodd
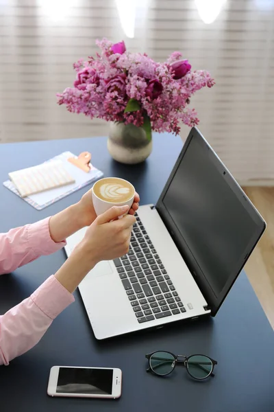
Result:
M118 177L105 177L97 181L92 187L92 201L95 213L105 213L113 206L132 207L135 188L132 183Z

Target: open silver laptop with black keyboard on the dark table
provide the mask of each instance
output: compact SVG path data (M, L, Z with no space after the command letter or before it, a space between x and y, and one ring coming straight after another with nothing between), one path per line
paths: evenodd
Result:
M95 337L214 317L265 227L192 128L157 204L139 207L129 253L100 262L79 284ZM85 230L67 239L68 256Z

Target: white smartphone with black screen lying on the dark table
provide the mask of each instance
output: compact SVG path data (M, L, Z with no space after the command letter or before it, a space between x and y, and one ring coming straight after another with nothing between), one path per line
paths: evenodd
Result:
M47 393L49 396L115 399L121 396L121 388L121 369L53 366Z

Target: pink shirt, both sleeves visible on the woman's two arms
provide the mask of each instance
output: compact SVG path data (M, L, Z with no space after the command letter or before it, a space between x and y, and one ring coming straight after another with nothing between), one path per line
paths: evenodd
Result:
M49 218L0 234L0 273L10 273L64 244L51 239ZM0 365L8 365L34 347L53 319L73 301L73 295L52 275L30 297L0 316Z

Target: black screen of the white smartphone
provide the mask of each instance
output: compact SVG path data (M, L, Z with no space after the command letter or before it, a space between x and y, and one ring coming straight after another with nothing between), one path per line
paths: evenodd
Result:
M112 376L112 369L61 367L56 392L111 395Z

